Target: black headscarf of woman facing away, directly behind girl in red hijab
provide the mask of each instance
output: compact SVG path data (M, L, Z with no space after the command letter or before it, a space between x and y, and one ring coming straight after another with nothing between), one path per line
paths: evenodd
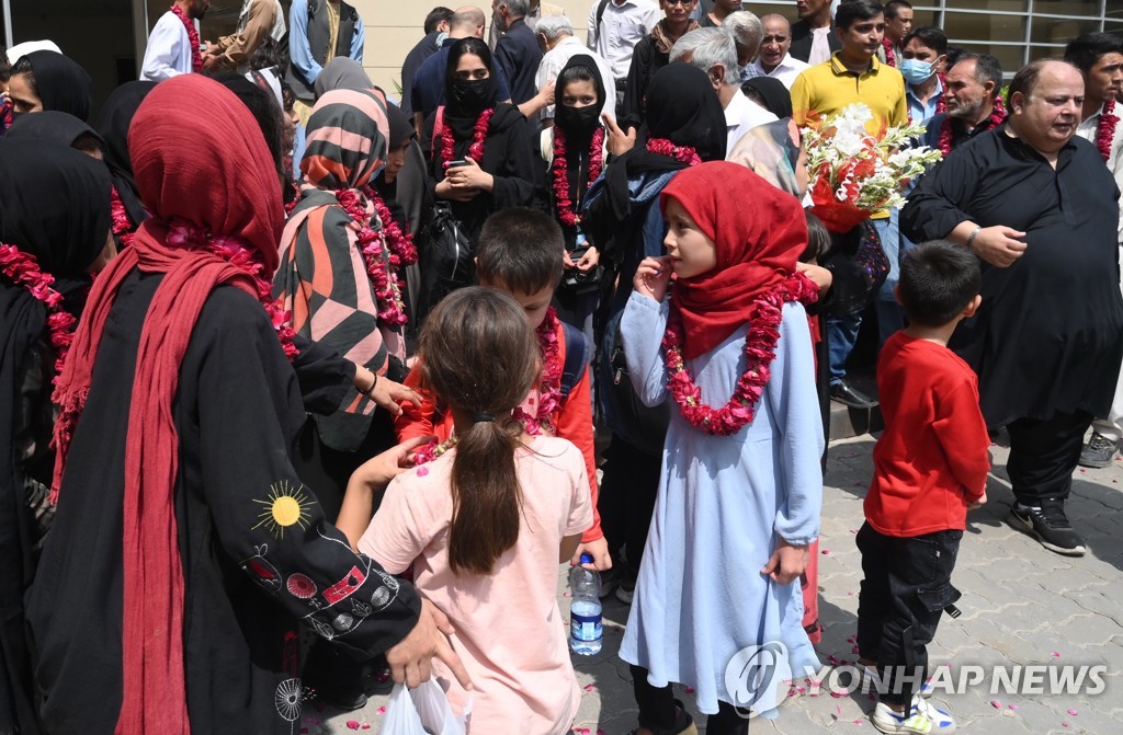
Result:
M617 220L631 212L628 180L649 171L681 171L686 164L649 153L647 141L666 138L694 148L702 160L725 158L725 111L705 72L692 64L664 66L647 88L647 122L636 147L613 160L606 174L608 194Z

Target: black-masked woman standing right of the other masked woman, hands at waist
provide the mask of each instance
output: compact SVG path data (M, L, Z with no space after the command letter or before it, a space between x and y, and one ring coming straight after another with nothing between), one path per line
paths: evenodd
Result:
M541 153L550 213L565 235L565 276L557 290L559 316L593 339L593 312L600 296L596 247L581 226L585 192L604 168L604 82L591 56L577 55L558 74L554 127L542 131Z

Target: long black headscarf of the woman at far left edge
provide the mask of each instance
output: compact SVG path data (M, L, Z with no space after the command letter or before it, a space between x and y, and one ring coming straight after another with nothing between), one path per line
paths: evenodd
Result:
M90 284L84 270L108 236L109 172L101 163L46 140L0 141L0 241L35 256L39 268L55 276L56 291L64 296L84 291ZM64 303L73 309L71 298ZM15 432L28 351L45 336L46 321L46 306L0 275L0 686L7 690L0 691L0 714L26 733L38 732L24 632L24 592L37 539L16 465Z

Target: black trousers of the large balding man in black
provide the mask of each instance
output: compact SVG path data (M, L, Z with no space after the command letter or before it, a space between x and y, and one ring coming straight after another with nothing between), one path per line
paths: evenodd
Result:
M1044 421L1019 419L1006 426L1006 472L1019 503L1040 505L1043 498L1068 497L1092 419L1090 413L1078 411L1057 413Z

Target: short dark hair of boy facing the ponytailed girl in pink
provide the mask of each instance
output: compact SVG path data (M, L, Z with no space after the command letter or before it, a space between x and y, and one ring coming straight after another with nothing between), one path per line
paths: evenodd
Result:
M545 212L513 206L484 222L476 246L476 274L493 286L536 294L557 287L564 269L562 227Z

